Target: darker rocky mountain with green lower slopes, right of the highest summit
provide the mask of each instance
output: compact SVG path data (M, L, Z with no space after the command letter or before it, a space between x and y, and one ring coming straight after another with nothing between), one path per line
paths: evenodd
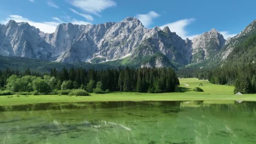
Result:
M183 40L168 27L158 29L132 51L131 60L142 62L141 67L166 67L173 64L187 65L191 57L190 40Z

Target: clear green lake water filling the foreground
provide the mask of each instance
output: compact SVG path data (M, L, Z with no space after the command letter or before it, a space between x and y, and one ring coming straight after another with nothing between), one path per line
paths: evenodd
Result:
M256 102L214 103L120 101L0 107L0 143L256 144Z

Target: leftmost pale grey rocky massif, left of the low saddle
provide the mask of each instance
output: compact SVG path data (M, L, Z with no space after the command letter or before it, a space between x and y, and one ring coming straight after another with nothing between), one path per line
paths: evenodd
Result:
M9 21L0 26L0 53L3 56L21 56L28 58L42 58L45 53L40 53L44 45L39 35L39 29L28 23ZM38 54L37 54L38 53ZM42 56L42 57L41 57Z

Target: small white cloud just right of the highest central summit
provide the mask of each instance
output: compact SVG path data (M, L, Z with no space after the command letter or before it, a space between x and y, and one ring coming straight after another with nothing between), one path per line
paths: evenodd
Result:
M141 21L144 27L149 27L152 24L152 20L160 16L155 11L149 11L147 14L138 14L136 17Z

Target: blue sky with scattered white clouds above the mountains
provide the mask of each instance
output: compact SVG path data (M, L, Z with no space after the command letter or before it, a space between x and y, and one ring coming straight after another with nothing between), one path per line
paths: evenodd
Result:
M183 39L217 29L225 38L256 19L256 0L1 0L0 23L27 21L43 32L60 23L100 24L137 17L147 28L169 26Z

